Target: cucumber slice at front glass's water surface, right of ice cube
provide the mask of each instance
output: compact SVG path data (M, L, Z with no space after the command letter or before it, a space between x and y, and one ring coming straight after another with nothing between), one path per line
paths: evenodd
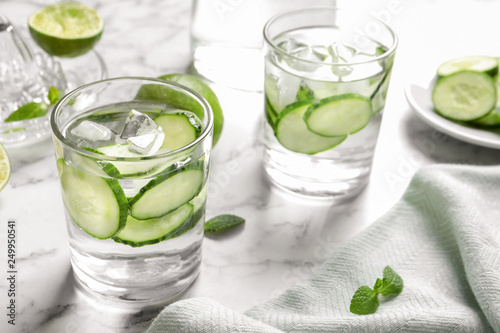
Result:
M196 140L201 131L201 128L195 127L184 113L163 114L156 117L154 122L163 129L165 134L160 152L168 152L184 147Z

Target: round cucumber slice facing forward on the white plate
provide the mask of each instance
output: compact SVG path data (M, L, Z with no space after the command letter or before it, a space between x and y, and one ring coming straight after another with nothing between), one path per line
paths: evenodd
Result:
M432 91L434 110L455 121L470 121L485 116L495 107L496 98L493 79L474 71L442 77Z

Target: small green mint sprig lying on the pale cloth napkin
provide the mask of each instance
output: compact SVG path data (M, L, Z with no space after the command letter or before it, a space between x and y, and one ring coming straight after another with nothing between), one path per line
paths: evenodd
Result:
M378 278L373 289L368 286L361 286L356 290L349 310L358 315L375 313L380 305L379 295L398 295L403 291L403 288L404 284L401 276L390 266L386 266L383 279Z

